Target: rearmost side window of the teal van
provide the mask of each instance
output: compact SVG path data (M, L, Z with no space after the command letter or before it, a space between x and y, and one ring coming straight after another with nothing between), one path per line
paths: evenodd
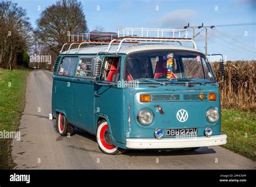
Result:
M72 77L74 76L76 68L77 57L63 57L62 62L60 62L58 75Z

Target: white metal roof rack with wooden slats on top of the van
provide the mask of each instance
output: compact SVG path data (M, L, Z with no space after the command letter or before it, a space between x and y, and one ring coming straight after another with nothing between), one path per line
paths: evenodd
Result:
M69 49L66 52L68 54L73 45L78 45L76 54L78 53L80 47L83 44L109 44L107 47L106 53L109 52L112 44L119 44L116 53L120 51L120 48L123 43L139 43L140 41L169 41L169 42L178 42L181 46L180 41L191 41L193 47L197 49L196 43L187 38L186 29L160 29L160 28L118 28L118 33L80 33L80 34L70 34L69 41L67 41L60 50L60 53L63 52L65 46L69 45ZM183 38L181 34L184 34ZM96 35L100 40L95 40ZM164 35L172 36L172 38L164 38ZM107 40L103 40L106 39ZM110 41L111 39L111 41Z

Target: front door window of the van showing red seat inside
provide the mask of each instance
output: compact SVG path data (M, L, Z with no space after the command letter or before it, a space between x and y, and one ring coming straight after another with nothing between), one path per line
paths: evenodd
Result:
M121 58L105 57L103 63L103 73L100 77L102 81L118 82L120 79Z

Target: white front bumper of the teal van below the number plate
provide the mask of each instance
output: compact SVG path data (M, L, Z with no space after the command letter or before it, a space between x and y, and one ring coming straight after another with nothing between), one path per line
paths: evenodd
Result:
M218 146L227 143L227 135L214 135L196 138L164 138L164 139L126 139L126 147L131 149L160 149Z

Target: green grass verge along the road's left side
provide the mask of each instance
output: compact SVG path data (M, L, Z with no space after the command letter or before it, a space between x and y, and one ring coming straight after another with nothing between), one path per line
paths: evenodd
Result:
M17 131L24 110L28 74L26 69L0 69L0 131ZM10 139L0 139L0 169L14 166L10 143Z

